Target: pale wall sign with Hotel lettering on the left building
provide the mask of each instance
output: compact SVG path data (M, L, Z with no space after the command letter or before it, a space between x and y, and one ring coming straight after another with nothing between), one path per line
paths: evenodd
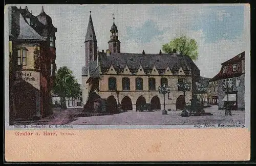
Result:
M26 81L36 89L40 89L40 73L34 71L17 71L16 82Z

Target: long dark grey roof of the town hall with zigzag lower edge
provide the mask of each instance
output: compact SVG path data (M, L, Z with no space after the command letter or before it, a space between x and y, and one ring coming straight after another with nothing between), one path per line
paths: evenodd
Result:
M191 67L196 67L190 58L179 54L111 53L111 56L106 56L103 52L99 54L102 69L109 69L111 65L115 69L124 69L127 65L129 69L138 70L141 65L144 70L148 71L155 66L157 70L165 70L169 67L173 73L176 73L182 67L187 74ZM197 67L196 70L199 71Z

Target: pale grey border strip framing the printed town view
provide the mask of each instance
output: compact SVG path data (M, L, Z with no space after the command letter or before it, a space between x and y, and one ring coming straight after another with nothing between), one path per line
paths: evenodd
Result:
M24 4L23 4L24 5ZM37 4L40 6L40 4ZM62 4L61 6L63 6ZM75 4L74 4L75 5ZM100 5L100 4L99 4ZM147 4L151 5L151 4ZM165 4L184 6L187 4ZM250 129L250 5L249 4L189 4L190 6L201 5L201 6L241 6L244 5L244 29L245 29L245 128ZM9 6L20 6L19 4L6 5L4 9L5 13L5 26L4 26L4 74L5 74L5 129L6 130L17 130L13 126L9 126L9 19L8 12ZM51 5L52 6L52 5ZM216 124L218 126L218 124ZM49 125L46 125L49 126ZM166 129L166 128L195 128L195 125L73 125L73 128L66 129ZM204 128L204 127L202 127ZM219 128L219 127L217 127ZM19 128L22 129L22 128ZM28 130L29 128L26 128ZM32 129L32 128L31 128ZM39 128L34 128L38 130ZM51 129L49 127L45 129ZM60 128L54 128L60 129ZM64 128L61 128L64 129Z

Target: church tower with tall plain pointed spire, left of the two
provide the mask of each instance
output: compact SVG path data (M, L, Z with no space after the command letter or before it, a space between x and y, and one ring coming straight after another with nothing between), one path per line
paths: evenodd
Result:
M94 32L91 11L87 27L86 40L84 43L86 45L86 67L89 67L90 61L97 61L97 39Z

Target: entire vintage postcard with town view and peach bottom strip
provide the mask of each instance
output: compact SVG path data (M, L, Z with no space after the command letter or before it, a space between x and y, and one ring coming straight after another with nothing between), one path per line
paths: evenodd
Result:
M249 4L6 5L4 40L7 161L250 157Z

